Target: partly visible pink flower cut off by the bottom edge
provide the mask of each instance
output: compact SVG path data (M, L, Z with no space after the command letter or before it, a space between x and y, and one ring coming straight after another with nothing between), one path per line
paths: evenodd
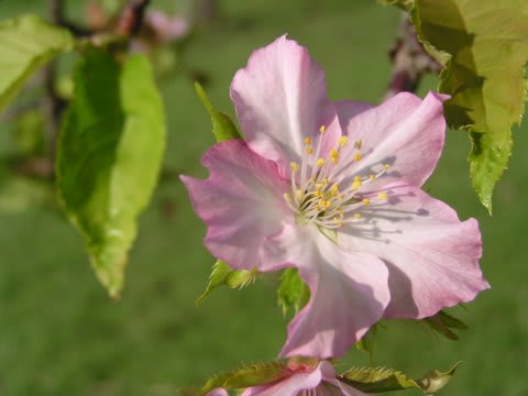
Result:
M362 392L340 382L329 362L316 367L299 365L292 374L275 383L254 386L242 396L361 396Z

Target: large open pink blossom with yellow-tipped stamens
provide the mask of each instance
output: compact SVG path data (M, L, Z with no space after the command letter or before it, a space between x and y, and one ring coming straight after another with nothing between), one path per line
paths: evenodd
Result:
M420 189L440 156L443 96L331 102L285 36L253 53L231 98L245 141L215 144L187 176L208 250L233 268L297 267L310 300L280 355L342 355L382 317L424 318L488 287L474 219Z

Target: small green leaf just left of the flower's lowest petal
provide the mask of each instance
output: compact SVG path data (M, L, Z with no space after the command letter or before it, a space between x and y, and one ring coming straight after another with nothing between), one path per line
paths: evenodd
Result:
M283 315L290 308L295 314L310 299L310 289L299 276L297 268L286 268L280 275L280 285L277 288L277 302Z

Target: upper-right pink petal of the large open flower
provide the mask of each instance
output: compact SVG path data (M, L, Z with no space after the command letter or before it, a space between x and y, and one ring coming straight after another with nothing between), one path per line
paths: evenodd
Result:
M364 103L337 102L343 131L350 141L363 143L363 158L359 162L354 161L353 144L345 147L340 163L342 174L375 174L383 164L389 164L391 179L421 186L443 147L446 98L431 92L421 100L402 92L371 109ZM384 183L389 180L386 176L384 179Z

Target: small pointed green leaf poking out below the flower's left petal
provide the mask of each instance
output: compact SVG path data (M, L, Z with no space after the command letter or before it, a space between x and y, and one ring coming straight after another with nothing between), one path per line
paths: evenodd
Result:
M261 277L256 270L231 270L231 267L221 260L218 260L212 266L209 284L204 294L198 297L196 304L200 304L208 297L212 290L219 286L228 286L231 288L242 288L251 285Z

